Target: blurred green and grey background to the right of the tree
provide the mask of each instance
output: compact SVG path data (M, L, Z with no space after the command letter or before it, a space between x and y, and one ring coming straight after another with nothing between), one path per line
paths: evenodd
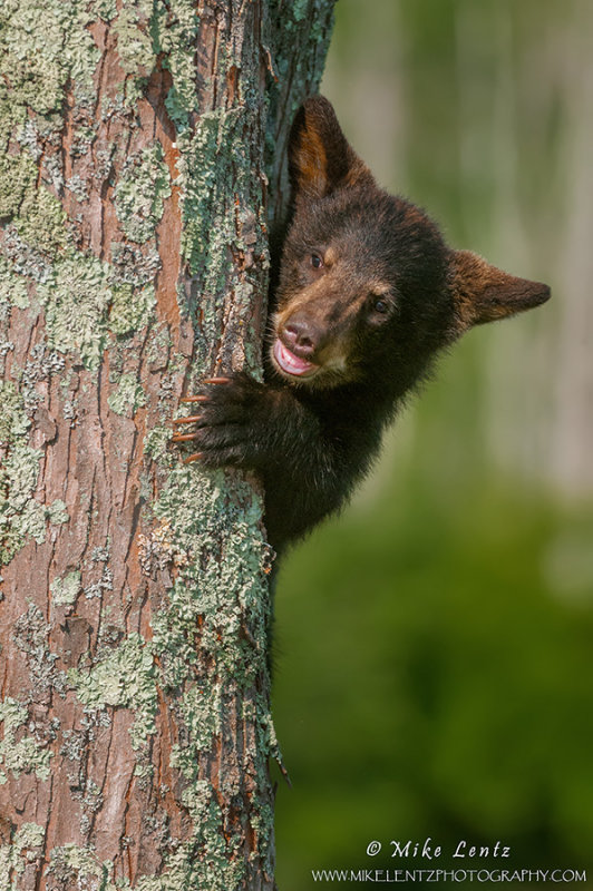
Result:
M586 0L337 3L322 89L379 182L553 302L445 356L282 567L282 891L428 836L593 883L592 46Z

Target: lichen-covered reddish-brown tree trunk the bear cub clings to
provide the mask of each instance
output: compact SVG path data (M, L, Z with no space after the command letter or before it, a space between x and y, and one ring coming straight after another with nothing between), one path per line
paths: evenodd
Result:
M167 440L257 373L331 7L2 2L0 891L274 887L261 501Z

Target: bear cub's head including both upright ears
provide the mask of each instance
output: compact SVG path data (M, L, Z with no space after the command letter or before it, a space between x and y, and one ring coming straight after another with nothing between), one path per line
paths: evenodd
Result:
M293 215L271 360L290 384L372 380L397 395L470 326L550 296L544 284L448 248L422 210L379 188L322 96L296 115L289 169Z

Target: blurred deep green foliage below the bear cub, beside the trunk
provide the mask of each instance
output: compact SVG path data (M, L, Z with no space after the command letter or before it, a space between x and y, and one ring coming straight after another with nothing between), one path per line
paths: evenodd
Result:
M288 891L309 887L305 864L363 864L375 838L590 860L593 567L572 578L562 549L583 561L593 516L486 478L398 480L281 574Z

